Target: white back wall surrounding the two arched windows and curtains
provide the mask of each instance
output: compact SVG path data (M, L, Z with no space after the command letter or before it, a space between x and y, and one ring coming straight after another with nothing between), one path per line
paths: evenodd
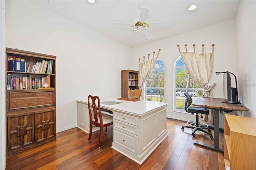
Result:
M193 44L196 46L196 52L202 53L202 44L204 44L204 52L210 53L212 51L212 44L214 44L214 65L210 84L216 83L213 89L213 96L216 98L224 98L223 96L223 83L222 75L215 75L216 71L230 71L234 74L237 73L234 65L236 65L235 58L235 30L234 20L228 20L208 26L205 28L197 29L191 32L186 32L177 36L172 36L164 40L148 43L134 47L132 49L132 56L134 63L132 66L138 68L138 58L148 53L152 54L153 51L161 49L158 59L164 62L165 66L165 82L164 82L164 101L169 103L170 110L167 111L167 116L174 119L184 121L194 120L194 116L187 113L178 113L173 111L174 100L174 63L180 56L177 45L180 45L180 50L185 51L184 45L187 44L188 51L193 51ZM220 116L220 127L224 128L224 117Z

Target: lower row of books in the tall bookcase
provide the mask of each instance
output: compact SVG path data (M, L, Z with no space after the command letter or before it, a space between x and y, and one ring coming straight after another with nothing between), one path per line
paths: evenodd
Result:
M11 74L7 74L7 90L11 89L38 89L43 88L44 83L48 83L50 87L51 77L50 75L44 77L17 77Z

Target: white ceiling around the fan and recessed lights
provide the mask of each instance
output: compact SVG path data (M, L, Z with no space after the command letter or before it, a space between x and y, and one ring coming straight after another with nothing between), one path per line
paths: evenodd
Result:
M240 3L239 0L96 0L94 4L87 0L33 2L130 47L233 19ZM133 32L132 27L113 25L132 25L138 21L138 4L150 9L146 19L148 24L170 21L171 26L147 28L154 37L147 40L141 31ZM191 4L197 4L196 10L187 10Z

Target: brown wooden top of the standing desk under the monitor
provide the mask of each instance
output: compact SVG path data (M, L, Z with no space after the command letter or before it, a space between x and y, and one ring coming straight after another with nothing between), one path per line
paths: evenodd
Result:
M229 110L229 111L249 111L249 109L240 104L232 104L232 103L221 103L225 99L219 98L207 98L200 97L192 103L193 106L207 107L208 109L220 109Z

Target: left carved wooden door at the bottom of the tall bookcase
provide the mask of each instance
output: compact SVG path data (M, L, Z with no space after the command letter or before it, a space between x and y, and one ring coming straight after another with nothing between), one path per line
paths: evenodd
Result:
M18 150L34 143L34 113L7 116L7 149Z

